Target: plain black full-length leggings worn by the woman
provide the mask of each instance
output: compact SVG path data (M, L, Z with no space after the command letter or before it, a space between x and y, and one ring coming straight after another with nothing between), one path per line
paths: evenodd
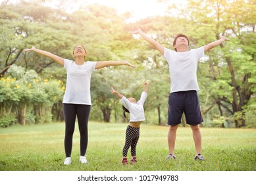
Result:
M71 156L72 152L72 139L76 116L78 118L78 126L80 131L80 155L86 154L88 146L88 120L90 115L91 106L86 104L63 104L63 112L65 119L65 139L64 148L66 157Z

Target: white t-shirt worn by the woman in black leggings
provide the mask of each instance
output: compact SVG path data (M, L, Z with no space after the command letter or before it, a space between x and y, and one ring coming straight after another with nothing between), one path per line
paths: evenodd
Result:
M95 70L96 62L76 64L73 60L64 60L66 68L66 91L63 103L91 105L91 74Z

